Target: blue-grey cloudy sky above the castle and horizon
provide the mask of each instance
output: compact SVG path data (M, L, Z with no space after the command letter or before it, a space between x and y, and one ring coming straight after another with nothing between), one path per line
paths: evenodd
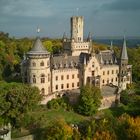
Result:
M140 0L0 0L0 31L14 37L70 36L70 17L84 16L84 36L140 36Z

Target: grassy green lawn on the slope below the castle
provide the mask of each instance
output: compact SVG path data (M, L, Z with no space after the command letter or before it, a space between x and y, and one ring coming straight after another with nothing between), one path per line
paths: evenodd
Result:
M82 116L74 111L60 109L40 108L30 113L36 122L41 122L42 126L48 126L55 119L63 118L69 124L79 124L82 121L88 120L90 117Z

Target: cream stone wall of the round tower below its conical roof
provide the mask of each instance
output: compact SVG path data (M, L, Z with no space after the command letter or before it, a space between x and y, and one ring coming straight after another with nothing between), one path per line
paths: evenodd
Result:
M44 66L41 63L44 62ZM35 63L35 65L34 65ZM44 88L44 95L48 95L51 92L50 89L50 61L49 58L42 59L30 59L28 67L28 83L32 86L36 86L41 91ZM41 83L41 75L45 75L45 81ZM36 81L34 81L34 75Z

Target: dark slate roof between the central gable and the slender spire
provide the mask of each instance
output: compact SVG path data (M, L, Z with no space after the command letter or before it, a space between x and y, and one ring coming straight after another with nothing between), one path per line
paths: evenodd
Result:
M100 51L96 57L100 64L117 64L117 58L111 50Z

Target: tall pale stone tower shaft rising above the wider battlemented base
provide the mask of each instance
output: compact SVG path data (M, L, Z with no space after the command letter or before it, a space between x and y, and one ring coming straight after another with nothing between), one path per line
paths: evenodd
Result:
M82 16L71 17L71 39L75 42L83 42L83 23Z

